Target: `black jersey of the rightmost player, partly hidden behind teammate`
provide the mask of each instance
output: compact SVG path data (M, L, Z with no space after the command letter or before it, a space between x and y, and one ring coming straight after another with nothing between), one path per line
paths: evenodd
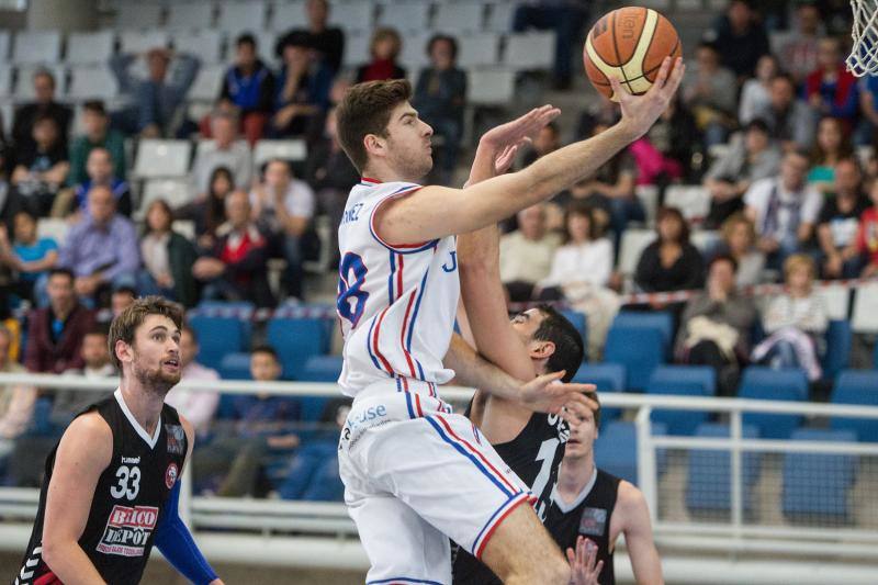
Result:
M597 561L604 561L604 569L598 576L600 585L614 585L616 575L612 570L612 551L610 551L610 519L616 508L619 491L619 477L596 470L594 483L589 482L579 496L570 505L564 504L558 494L549 508L545 528L562 550L576 548L576 538L586 537L597 544ZM596 562L597 562L596 561Z

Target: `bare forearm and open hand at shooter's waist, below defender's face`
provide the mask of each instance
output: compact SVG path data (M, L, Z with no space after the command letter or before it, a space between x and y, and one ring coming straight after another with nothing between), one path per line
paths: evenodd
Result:
M454 370L454 383L517 401L533 412L559 414L564 406L574 404L597 409L597 404L586 396L596 392L594 384L563 384L559 382L563 371L521 382L479 356L459 335L451 337L443 363Z

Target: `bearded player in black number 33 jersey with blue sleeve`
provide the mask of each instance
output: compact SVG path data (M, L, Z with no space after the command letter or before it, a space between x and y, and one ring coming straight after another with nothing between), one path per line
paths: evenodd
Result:
M190 581L222 584L177 515L193 431L164 402L180 381L181 320L159 297L113 320L120 387L80 413L46 459L16 585L138 583L154 543Z

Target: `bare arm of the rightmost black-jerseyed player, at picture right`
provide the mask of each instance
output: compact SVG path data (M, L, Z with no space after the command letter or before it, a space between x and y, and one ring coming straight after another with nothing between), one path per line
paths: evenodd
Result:
M622 532L638 585L664 585L662 560L652 540L650 510L640 490L628 482L619 484L616 514L621 513Z

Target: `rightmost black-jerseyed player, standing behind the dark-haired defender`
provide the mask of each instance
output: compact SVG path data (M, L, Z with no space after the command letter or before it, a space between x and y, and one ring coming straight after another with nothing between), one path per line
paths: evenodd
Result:
M612 554L624 535L634 578L639 584L662 584L662 563L652 539L650 511L643 494L630 483L595 466L594 441L600 410L576 409L571 435L545 526L562 549L572 549L581 537L597 545L604 566L600 585L616 583Z

